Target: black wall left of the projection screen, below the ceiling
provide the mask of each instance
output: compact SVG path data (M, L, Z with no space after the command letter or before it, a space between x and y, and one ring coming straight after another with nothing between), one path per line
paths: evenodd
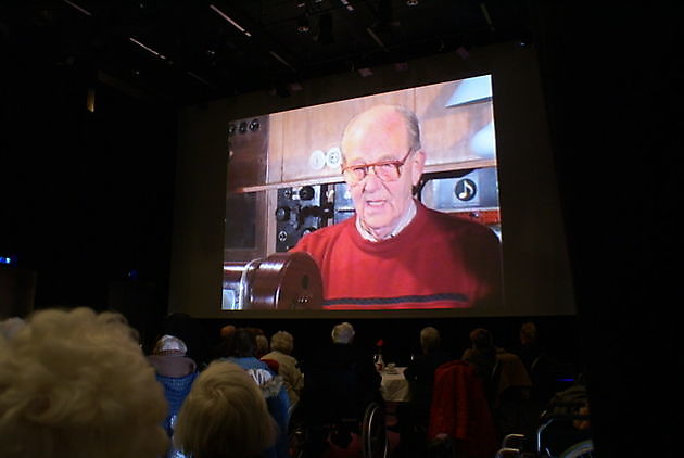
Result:
M35 272L35 307L106 308L126 280L155 284L149 307L165 310L175 110L101 84L78 58L0 58L0 253Z

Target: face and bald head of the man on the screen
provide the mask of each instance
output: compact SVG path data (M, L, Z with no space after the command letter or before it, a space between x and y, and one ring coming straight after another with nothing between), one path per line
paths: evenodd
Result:
M394 111L362 115L343 139L344 165L401 161L409 151L404 118ZM356 215L376 238L387 237L396 227L411 201L411 188L422 174L425 155L413 152L400 168L395 181L382 181L372 170L357 183L347 180Z

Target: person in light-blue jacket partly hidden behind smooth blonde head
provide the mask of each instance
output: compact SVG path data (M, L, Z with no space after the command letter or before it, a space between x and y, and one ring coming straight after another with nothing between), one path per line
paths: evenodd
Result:
M256 334L244 328L236 330L230 355L225 358L229 362L240 366L254 379L261 389L268 411L278 424L278 436L275 446L269 450L271 456L286 458L288 449L288 423L290 412L290 399L282 378L268 367L268 365L255 356Z

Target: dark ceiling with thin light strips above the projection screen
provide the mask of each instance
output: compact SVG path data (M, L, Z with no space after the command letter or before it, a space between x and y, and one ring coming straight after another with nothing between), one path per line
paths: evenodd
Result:
M416 3L416 4L411 4ZM229 20L238 26L233 26ZM496 42L529 41L524 0L13 0L10 62L79 67L179 105Z

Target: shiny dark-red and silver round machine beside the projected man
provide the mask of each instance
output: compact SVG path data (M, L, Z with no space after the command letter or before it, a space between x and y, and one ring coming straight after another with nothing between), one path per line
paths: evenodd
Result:
M321 303L320 270L306 253L224 263L224 310L317 309Z

